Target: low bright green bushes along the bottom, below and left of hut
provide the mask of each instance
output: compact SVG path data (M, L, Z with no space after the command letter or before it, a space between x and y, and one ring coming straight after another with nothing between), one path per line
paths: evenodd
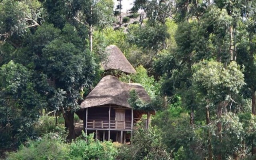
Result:
M115 160L118 150L110 141L93 139L94 134L76 138L70 144L57 133L45 134L38 140L29 140L17 152L7 154L7 160ZM87 138L87 141L85 140Z

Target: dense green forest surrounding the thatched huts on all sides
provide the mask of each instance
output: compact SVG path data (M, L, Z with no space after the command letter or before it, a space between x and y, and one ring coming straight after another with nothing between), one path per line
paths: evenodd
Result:
M0 0L0 153L8 160L255 160L256 1ZM138 12L142 10L143 12ZM76 138L114 44L156 110L132 144ZM76 138L76 139L75 139Z

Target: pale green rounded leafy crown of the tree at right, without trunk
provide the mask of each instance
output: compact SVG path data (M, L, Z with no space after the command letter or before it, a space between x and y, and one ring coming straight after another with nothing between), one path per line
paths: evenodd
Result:
M226 68L214 61L194 65L194 88L214 104L237 95L244 84L244 75L236 62L231 62Z

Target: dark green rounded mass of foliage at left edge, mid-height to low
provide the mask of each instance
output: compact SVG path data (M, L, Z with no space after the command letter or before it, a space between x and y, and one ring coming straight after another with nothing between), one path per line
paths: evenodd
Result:
M21 64L10 61L3 65L0 81L0 142L3 147L16 146L34 136L32 124L46 100L36 90L33 72Z

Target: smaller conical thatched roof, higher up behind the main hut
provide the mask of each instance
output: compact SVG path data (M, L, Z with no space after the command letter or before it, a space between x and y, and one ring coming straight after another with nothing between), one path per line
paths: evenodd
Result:
M130 62L122 51L115 45L107 46L105 49L107 58L102 62L104 70L120 70L126 73L136 73Z

